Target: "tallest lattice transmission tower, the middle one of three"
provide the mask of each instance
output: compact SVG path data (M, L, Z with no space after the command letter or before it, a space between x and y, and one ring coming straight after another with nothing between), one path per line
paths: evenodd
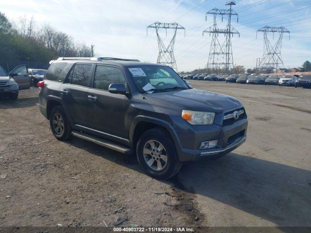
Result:
M209 27L207 30L203 32L212 34L212 42L210 44L210 50L207 61L207 68L213 70L225 69L226 73L229 73L231 69L233 69L233 55L232 55L232 43L231 36L233 34L238 34L240 37L240 33L231 25L231 17L237 16L239 21L239 15L234 10L232 10L232 5L236 5L234 1L229 0L225 5L230 5L230 9L217 9L206 13L205 20L207 20L207 15L213 15L214 23L213 26ZM224 16L228 17L228 23L225 29L219 29L217 25L217 16L222 16L222 21ZM218 39L219 34L225 35L225 41L220 42Z

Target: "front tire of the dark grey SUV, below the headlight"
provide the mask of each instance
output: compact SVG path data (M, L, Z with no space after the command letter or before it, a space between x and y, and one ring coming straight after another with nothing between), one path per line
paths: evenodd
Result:
M154 147L149 142L154 142ZM157 149L161 146L164 151L159 150L160 153L157 153ZM152 148L155 150L152 150ZM151 155L149 151L144 153L144 149L145 151L149 150L150 153L154 152L154 154ZM136 145L136 153L140 166L149 176L155 179L167 180L176 175L182 167L171 135L162 129L155 128L142 133ZM163 155L166 155L166 163L162 159ZM149 162L149 165L147 162ZM158 163L161 163L160 170L156 170L159 168Z

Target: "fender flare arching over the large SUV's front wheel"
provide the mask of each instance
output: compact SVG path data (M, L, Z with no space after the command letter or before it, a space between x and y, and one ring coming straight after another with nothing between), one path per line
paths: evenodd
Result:
M133 148L135 147L135 145L134 145L134 132L135 132L136 126L140 122L153 123L155 125L159 125L159 126L164 127L170 133L170 135L172 136L173 141L174 141L175 146L176 146L176 150L179 151L179 150L182 149L182 146L181 146L181 143L179 141L178 135L177 135L175 129L173 128L172 124L170 124L169 122L167 122L165 120L159 119L159 118L155 118L155 117L152 117L152 116L143 116L143 115L136 116L133 119L131 127L130 127L129 136L130 136L130 142L131 142Z

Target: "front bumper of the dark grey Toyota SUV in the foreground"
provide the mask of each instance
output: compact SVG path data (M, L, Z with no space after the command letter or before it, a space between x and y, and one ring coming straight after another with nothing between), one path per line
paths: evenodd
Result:
M218 138L218 147L207 150L188 150L181 149L178 152L178 157L181 162L189 162L196 160L213 160L224 156L225 154L235 150L246 141L248 120L247 118L237 121L236 123L223 126ZM208 132L205 132L208 138ZM202 141L202 138L200 139Z

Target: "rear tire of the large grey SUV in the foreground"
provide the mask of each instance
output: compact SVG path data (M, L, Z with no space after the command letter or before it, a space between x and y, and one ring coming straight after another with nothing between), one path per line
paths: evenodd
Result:
M57 117L60 116L60 117ZM58 122L57 122L58 119ZM54 124L56 120L56 124ZM59 123L59 124L58 124ZM71 126L68 117L62 106L53 107L50 113L50 126L54 137L59 141L66 141L71 138ZM58 128L57 128L58 126Z

